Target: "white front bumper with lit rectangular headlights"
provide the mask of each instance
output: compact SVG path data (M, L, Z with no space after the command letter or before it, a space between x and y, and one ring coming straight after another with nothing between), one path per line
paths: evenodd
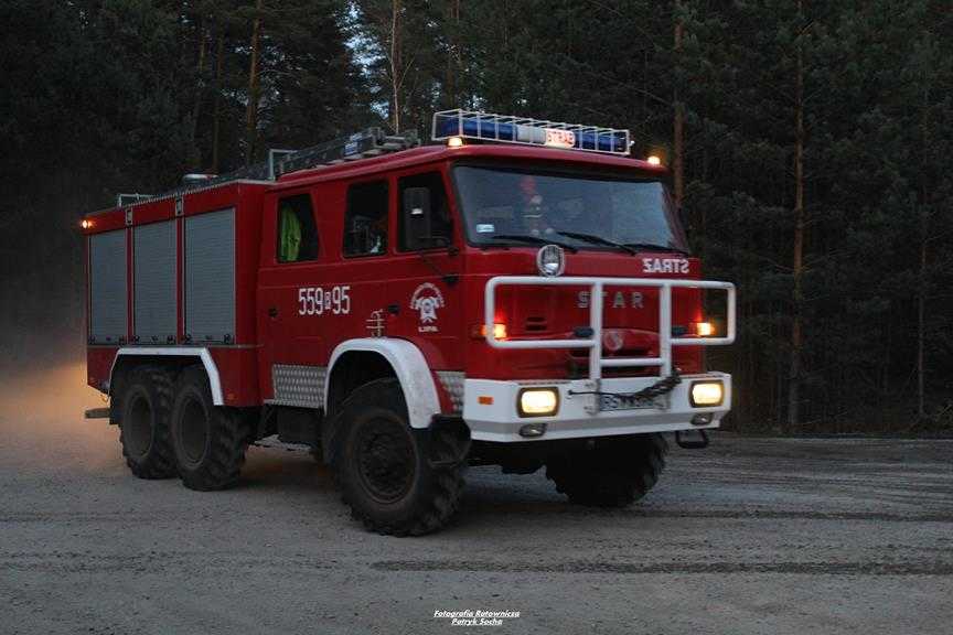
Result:
M692 383L699 379L720 380L725 398L720 406L693 408L688 401ZM602 379L603 392L635 392L657 381L657 377L628 377ZM559 390L559 410L552 417L520 417L516 400L522 388L539 386ZM683 375L682 383L661 399L660 407L636 410L604 410L597 408L593 395L570 395L591 391L588 379L563 381L497 381L467 379L463 390L463 420L475 441L532 442L553 439L585 439L613 434L674 432L718 428L721 418L731 408L731 376L725 373ZM481 399L482 398L482 399ZM491 402L492 401L492 402ZM711 420L693 424L696 415L710 413ZM535 439L520 435L527 423L546 423L546 433Z

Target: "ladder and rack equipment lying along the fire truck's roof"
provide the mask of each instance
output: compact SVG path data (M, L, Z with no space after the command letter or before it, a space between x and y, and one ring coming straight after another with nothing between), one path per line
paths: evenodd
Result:
M205 190L234 181L275 181L291 172L371 159L390 152L416 148L419 144L420 139L417 132L413 130L403 134L387 134L381 128L367 128L361 132L325 141L324 143L304 148L303 150L271 149L268 151L267 161L239 168L226 174L208 176L207 179L194 179L162 194L120 194L117 196L116 206L125 207L144 201L181 196L189 192Z

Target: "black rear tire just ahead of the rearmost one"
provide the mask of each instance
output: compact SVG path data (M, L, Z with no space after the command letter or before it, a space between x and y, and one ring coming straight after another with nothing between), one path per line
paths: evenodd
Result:
M208 492L235 483L248 448L248 418L212 402L202 366L190 366L179 376L170 429L179 475L186 487Z

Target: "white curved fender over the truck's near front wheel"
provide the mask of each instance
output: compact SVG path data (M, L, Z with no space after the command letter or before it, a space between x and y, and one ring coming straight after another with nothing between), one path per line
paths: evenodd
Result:
M407 402L407 413L410 417L411 428L429 428L430 418L440 412L440 399L437 396L437 387L433 386L433 377L427 359L417 346L406 340L392 337L362 337L347 340L339 344L331 354L328 363L328 375L324 378L324 411L328 411L328 395L331 388L331 376L334 364L344 353L361 351L378 353L390 364L400 389L404 390L404 400Z

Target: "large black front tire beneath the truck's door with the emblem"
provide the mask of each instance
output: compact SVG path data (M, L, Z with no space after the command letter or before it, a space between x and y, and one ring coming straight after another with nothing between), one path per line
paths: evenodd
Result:
M400 384L370 381L332 422L331 470L352 516L371 531L420 536L460 507L469 432L413 430Z

